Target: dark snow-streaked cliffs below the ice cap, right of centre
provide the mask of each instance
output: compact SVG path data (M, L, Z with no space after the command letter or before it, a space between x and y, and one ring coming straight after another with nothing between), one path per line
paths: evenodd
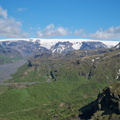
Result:
M96 49L96 48L107 48L102 42L58 42L51 47L53 53L67 53L74 50L84 50L84 49Z

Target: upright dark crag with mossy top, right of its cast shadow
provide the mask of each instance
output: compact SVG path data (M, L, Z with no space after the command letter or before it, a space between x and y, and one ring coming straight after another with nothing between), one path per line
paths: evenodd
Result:
M98 109L120 114L120 83L106 87L98 95Z

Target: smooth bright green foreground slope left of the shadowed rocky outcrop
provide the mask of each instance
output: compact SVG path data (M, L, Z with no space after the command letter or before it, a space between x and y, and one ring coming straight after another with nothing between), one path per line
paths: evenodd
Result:
M78 114L80 107L96 99L103 87L81 80L39 83L23 89L8 88L0 95L0 117L11 120L70 119Z

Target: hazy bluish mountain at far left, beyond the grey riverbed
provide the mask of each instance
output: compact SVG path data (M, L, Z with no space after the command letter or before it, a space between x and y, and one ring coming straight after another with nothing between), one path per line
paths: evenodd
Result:
M3 41L0 42L0 64L11 63L19 59L33 57L36 54L50 52L41 47L39 41Z

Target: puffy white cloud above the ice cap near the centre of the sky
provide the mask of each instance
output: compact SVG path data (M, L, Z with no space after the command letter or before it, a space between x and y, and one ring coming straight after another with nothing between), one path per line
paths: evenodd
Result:
M37 37L66 36L70 32L64 27L55 27L54 24L48 25L43 31L37 32Z

